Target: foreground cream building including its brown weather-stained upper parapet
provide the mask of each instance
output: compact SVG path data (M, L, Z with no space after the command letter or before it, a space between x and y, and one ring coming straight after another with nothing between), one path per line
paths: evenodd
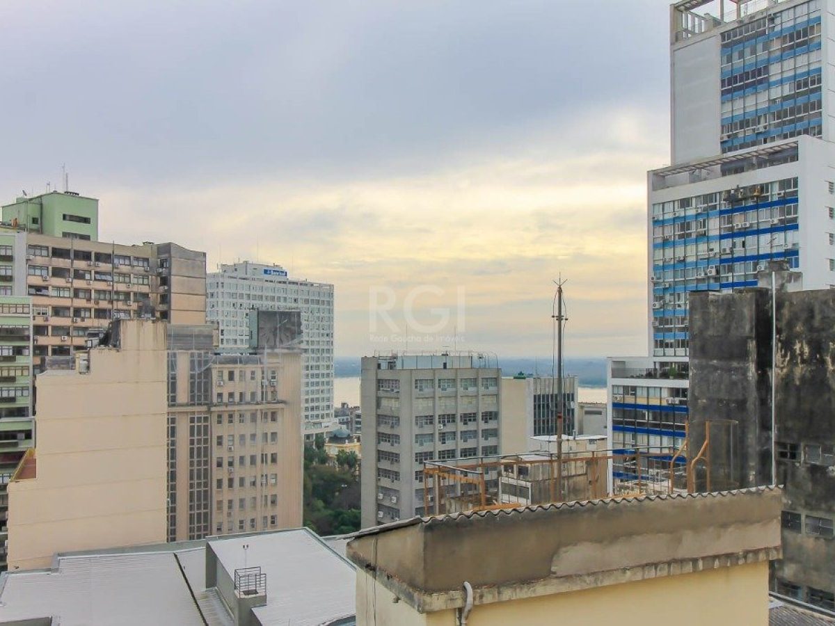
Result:
M559 615L559 623L766 626L781 495L622 498L367 528L347 546L357 623L537 626Z

